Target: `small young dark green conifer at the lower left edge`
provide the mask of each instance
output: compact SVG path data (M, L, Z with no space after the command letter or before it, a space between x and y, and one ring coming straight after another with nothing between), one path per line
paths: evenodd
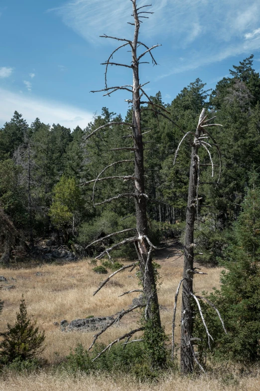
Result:
M16 313L16 322L13 326L7 324L7 331L0 333L0 360L3 364L10 364L14 360L30 361L44 350L45 334L39 332L31 317L27 315L25 300L22 297L19 312Z

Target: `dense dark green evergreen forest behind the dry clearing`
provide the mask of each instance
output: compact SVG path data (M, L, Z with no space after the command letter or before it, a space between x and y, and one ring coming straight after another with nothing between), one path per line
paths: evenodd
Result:
M206 131L202 134L207 147L200 150L194 200L196 265L203 271L224 269L221 287L212 293L205 292L205 300L211 307L201 300L205 322L214 340L210 347L209 332L201 322L195 301L192 302L193 339L200 340L194 354L195 366L207 367L206 353L220 361L257 363L260 360L260 74L254 69L254 55L234 64L229 76L221 79L213 90L197 78L169 104L162 101L160 91L148 98L151 104L141 104L140 110L147 236L148 243L154 246L174 239L183 251L191 142L202 109L205 108L209 120L215 117L214 122L221 125L209 128L211 138ZM111 111L113 107L103 107L101 115L95 114L85 129L46 124L40 118L28 124L17 111L3 125L0 129L3 268L23 267L35 260L55 263L64 256L65 261L91 259L97 273L107 273L108 267L117 271L123 267L121 262L136 261L133 241L127 239L128 232L136 226L132 198L133 136L126 126L133 116L129 107L126 118ZM158 115L154 107L160 107L164 115ZM98 128L100 131L95 132ZM115 232L117 238L112 235ZM123 246L115 246L105 254L117 242L124 242ZM46 253L46 243L48 249L53 246L53 251ZM102 252L105 257L100 260L98 255ZM149 255L150 252L148 258ZM156 280L160 272L156 264L154 271ZM199 273L195 269L192 272ZM24 299L21 308L26 318ZM223 332L216 308L227 333ZM25 321L29 324L29 320ZM159 349L154 351L151 345L163 345L167 337L154 334L146 311L145 321L140 321L141 325L145 323L144 341L149 340L144 350L152 364L147 365L147 372L142 375L150 377L149 368L162 368L168 360L163 355L158 358ZM8 330L13 329L8 326ZM163 333L163 328L158 333ZM36 334L34 337L41 344L44 333L38 337ZM67 360L71 368L79 357L84 365L89 362L82 349L78 346L74 354L71 352ZM128 365L131 357L135 360L138 348L135 349L129 350ZM119 351L113 352L116 358ZM108 355L104 357L103 364L109 362ZM102 364L99 366L98 370L102 369ZM183 370L184 374L187 372L192 371Z

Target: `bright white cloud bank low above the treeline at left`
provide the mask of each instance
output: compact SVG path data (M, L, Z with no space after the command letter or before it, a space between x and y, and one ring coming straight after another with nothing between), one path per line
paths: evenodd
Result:
M39 117L44 123L59 123L63 126L74 129L77 125L85 128L91 121L93 114L74 106L66 105L57 101L50 101L11 92L0 88L0 126L9 121L13 112L17 110L22 113L23 118L30 124Z

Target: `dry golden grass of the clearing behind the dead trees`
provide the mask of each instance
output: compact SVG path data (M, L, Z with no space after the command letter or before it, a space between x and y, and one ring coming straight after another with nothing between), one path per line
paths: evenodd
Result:
M164 254L164 253L163 253ZM166 333L171 333L172 308L176 287L182 276L182 257L170 256L165 259L164 255L159 255L156 262L161 265L160 276L161 286L159 289L159 302L165 307L161 311L162 323ZM54 322L63 319L72 321L73 319L85 318L88 315L106 316L113 315L127 309L131 300L136 297L136 293L118 297L121 293L138 289L138 282L135 278L135 270L129 270L118 274L113 278L119 284L108 284L96 296L93 292L100 282L106 277L95 274L90 260L85 259L77 263L67 263L63 265L42 265L35 268L26 269L0 269L10 284L15 285L15 289L4 290L6 284L2 285L1 299L4 300L4 308L0 316L0 331L6 329L6 323L13 324L15 314L19 307L22 294L24 295L29 314L33 314L34 319L40 329L46 332L46 350L43 358L50 364L57 361L57 352L60 357L66 356L70 348L74 348L78 342L88 347L93 339L92 333L64 333L55 326ZM40 275L36 275L36 273ZM203 290L211 291L219 286L220 269L207 269L208 276L195 276L195 290L201 293ZM16 280L11 280L13 278ZM178 314L180 317L180 306ZM123 318L120 325L112 327L104 333L101 341L108 342L125 334L136 325L138 312L130 313ZM179 328L176 330L176 342L180 337Z

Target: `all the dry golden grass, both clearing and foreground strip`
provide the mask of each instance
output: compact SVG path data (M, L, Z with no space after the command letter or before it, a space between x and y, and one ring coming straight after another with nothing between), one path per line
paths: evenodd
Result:
M170 243L168 243L168 246ZM161 308L162 323L166 333L171 333L172 309L176 287L182 276L183 257L180 257L178 249L169 246L167 249L158 251L154 260L161 265L159 270L161 285L159 289L159 302ZM15 314L18 310L22 294L24 295L29 314L40 329L46 333L46 349L42 357L50 365L58 363L74 348L77 343L88 347L93 339L93 332L64 333L54 322L63 319L72 321L85 318L89 315L107 316L114 315L120 310L127 309L132 299L138 294L132 293L118 297L123 292L138 289L135 270L130 270L116 275L96 296L93 292L100 282L106 277L93 272L93 265L89 259L80 262L71 262L60 265L41 265L31 268L10 268L0 269L9 282L15 286L14 289L6 290L8 286L1 283L0 298L4 300L3 312L0 316L0 331L6 329L6 323L13 324ZM219 287L220 269L209 268L205 270L208 275L195 275L194 287L197 293L203 290L211 291L213 287ZM15 281L16 280L16 281ZM102 335L100 341L109 342L120 335L130 331L138 322L138 312L132 312L122 319L117 327L108 329ZM178 306L178 317L180 317L180 305ZM176 342L180 338L179 328L176 330ZM111 380L101 377L80 377L79 379L57 378L48 373L24 376L6 376L5 381L0 384L0 391L10 390L260 390L259 378L252 378L250 382L240 381L239 385L225 385L216 380L202 377L195 380L183 380L174 375L162 380L156 386L134 383L131 379ZM244 382L244 383L243 383ZM241 388L243 385L243 388ZM239 388L237 388L239 387Z

